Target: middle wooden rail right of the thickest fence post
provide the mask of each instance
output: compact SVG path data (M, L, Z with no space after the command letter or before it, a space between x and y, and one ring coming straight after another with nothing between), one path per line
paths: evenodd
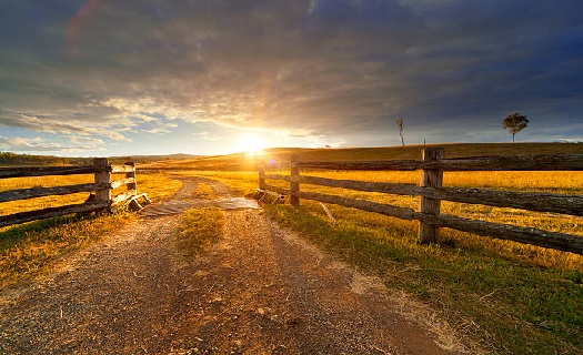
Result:
M426 197L461 203L583 216L583 196L581 195L461 187L426 187L421 190L420 194Z

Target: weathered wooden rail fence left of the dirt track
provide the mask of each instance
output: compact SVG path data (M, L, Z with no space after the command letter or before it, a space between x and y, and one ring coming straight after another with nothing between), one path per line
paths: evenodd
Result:
M112 181L111 175L123 173L124 179ZM54 187L32 187L0 192L0 203L27 200L50 195L67 195L80 192L94 193L81 204L70 204L58 207L48 207L37 211L26 211L0 216L0 227L36 220L62 216L71 213L88 213L103 211L119 202L137 197L135 166L129 162L124 165L111 165L107 158L93 160L93 165L86 166L18 166L0 168L0 179L93 174L93 183L84 183ZM112 196L113 189L125 185L128 190L120 195Z

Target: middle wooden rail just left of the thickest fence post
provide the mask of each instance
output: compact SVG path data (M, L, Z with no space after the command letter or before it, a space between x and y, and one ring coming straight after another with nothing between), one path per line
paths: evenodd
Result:
M421 195L423 189L415 184L398 184L386 182L366 182L358 180L336 180L318 176L301 176L300 182L329 187L340 187L365 192L391 193L395 195Z

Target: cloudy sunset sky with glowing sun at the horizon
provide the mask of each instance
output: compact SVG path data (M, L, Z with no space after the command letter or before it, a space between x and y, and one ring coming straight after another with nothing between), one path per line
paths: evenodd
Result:
M583 141L581 0L0 0L0 151Z

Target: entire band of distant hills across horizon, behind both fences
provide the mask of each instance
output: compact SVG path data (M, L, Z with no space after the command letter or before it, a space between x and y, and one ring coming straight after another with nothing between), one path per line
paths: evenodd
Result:
M537 154L583 154L583 143L448 143L443 146L446 158L482 155L537 155ZM290 155L296 154L304 161L372 161L421 159L422 145L305 149L273 148L264 154L249 156L244 153L230 155L121 155L111 156L114 164L135 162L143 170L215 170L215 171L255 171L258 161L289 166ZM0 166L14 165L87 165L91 158L62 158L53 155L29 155L0 152Z

